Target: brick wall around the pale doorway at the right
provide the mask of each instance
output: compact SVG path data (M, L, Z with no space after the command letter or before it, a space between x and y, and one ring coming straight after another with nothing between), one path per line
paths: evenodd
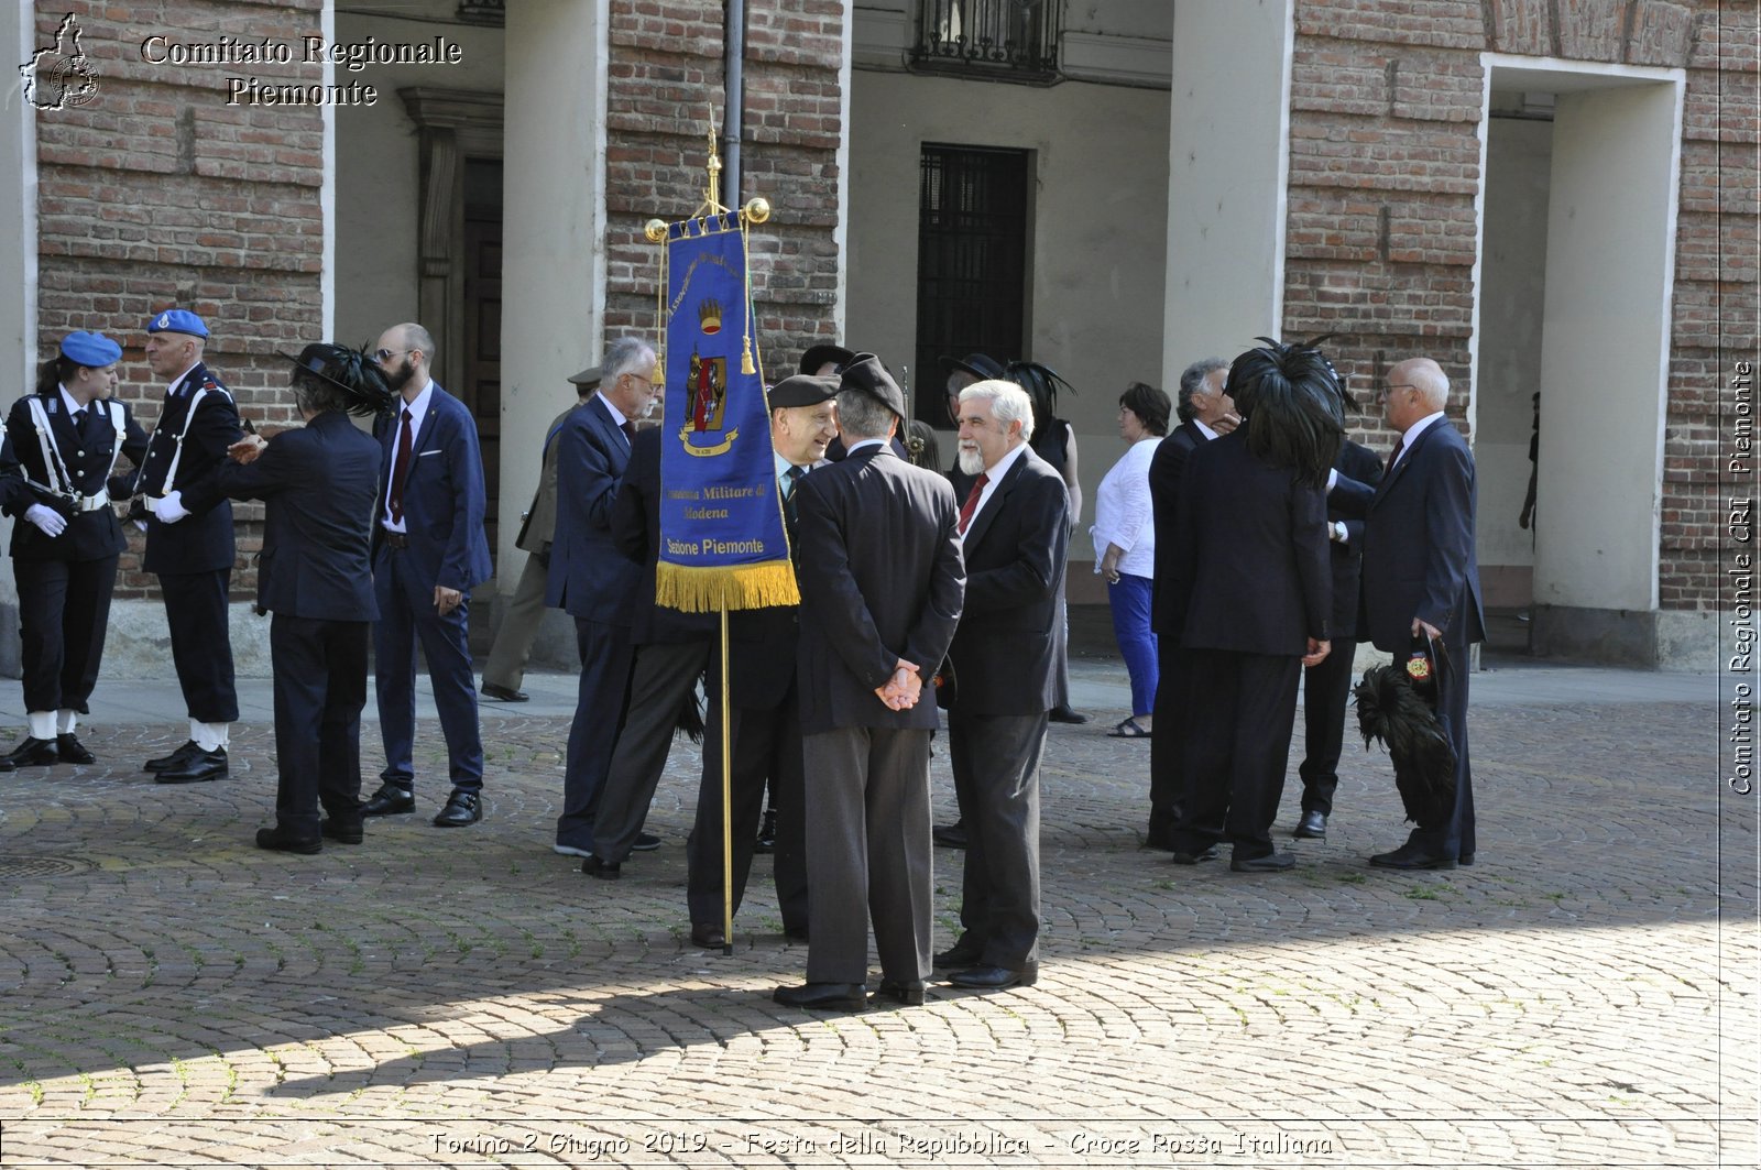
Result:
M1460 412L1486 49L1687 69L1659 585L1664 610L1717 608L1719 388L1757 344L1756 5L1298 0L1284 331L1347 335L1363 419L1374 379L1414 352L1442 363Z

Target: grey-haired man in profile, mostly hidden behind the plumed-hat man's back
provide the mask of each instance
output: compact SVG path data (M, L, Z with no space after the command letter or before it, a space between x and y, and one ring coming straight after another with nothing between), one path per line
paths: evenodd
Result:
M1157 677L1155 726L1162 729L1150 740L1150 828L1145 846L1150 849L1175 848L1175 818L1180 812L1180 722L1185 717L1185 700L1176 694L1180 684L1180 615L1173 611L1173 594L1168 583L1175 576L1175 516L1180 515L1180 478L1187 456L1203 442L1234 430L1242 418L1234 400L1224 391L1229 363L1222 358L1194 361L1180 375L1180 395L1175 414L1180 426L1155 448L1150 460L1150 507L1155 516L1155 585L1150 592L1150 629L1155 633Z

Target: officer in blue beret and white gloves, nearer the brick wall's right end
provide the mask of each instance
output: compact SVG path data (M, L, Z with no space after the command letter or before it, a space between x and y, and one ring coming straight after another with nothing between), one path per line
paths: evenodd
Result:
M171 627L171 661L190 714L190 742L143 765L160 784L225 775L229 724L238 719L227 587L232 580L232 504L213 479L239 439L232 393L203 365L208 326L187 308L146 324L146 365L169 381L132 492L146 506L144 569L158 574Z

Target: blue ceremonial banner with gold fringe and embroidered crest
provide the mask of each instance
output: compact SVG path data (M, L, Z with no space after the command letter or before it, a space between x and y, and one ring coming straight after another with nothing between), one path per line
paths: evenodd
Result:
M667 226L655 603L798 604L736 211Z

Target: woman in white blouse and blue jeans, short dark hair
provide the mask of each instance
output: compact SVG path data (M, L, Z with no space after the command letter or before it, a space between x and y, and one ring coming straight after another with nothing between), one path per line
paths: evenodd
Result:
M1155 518L1150 509L1150 458L1168 433L1168 395L1132 382L1118 398L1118 437L1129 446L1095 493L1095 573L1106 578L1113 636L1131 671L1131 717L1108 735L1148 738L1155 708L1155 634L1150 590L1155 581Z

